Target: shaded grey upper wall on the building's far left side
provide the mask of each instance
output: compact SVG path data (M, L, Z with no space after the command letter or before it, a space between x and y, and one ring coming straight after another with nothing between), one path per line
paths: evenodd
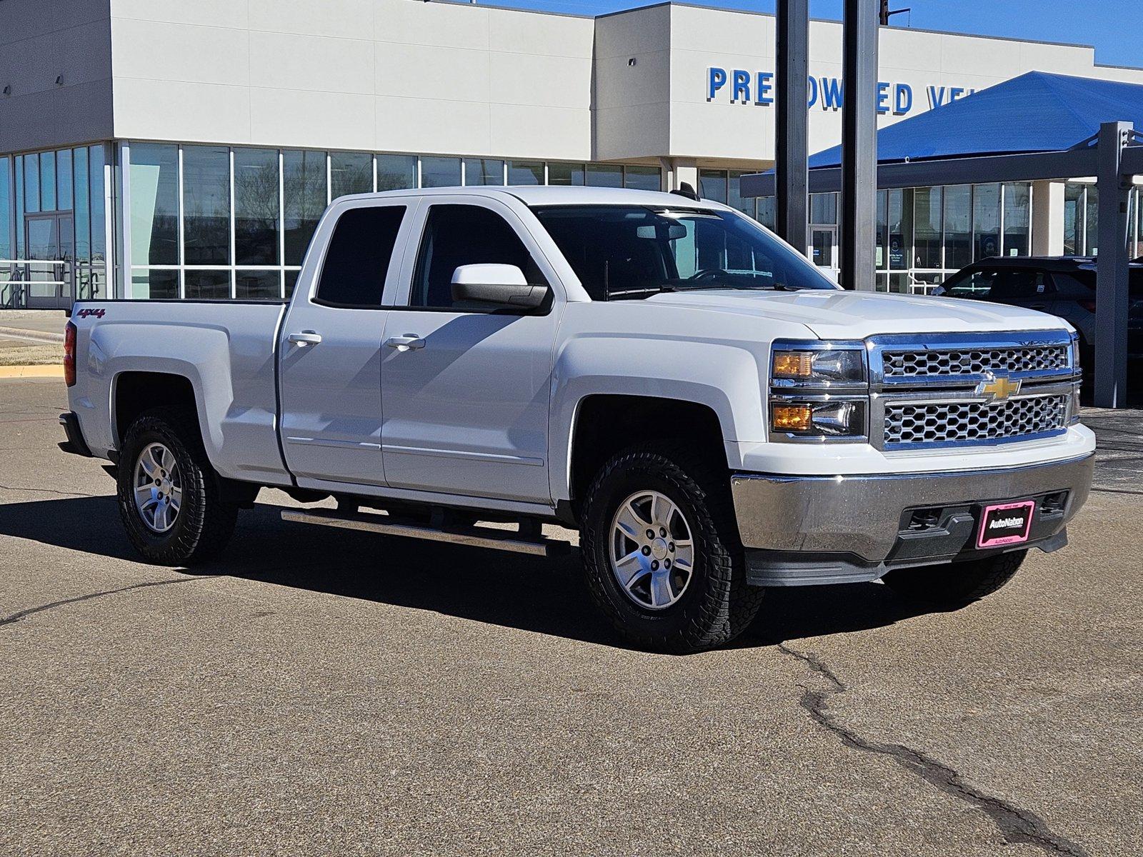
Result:
M0 152L111 136L107 0L0 2ZM63 82L57 85L56 78Z

